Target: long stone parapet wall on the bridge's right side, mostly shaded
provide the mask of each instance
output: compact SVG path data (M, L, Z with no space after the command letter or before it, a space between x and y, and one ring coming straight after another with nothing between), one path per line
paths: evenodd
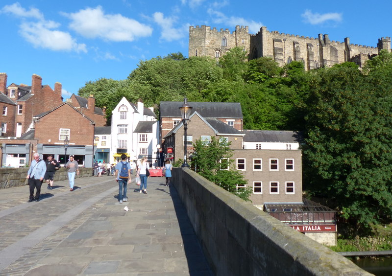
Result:
M188 168L172 183L216 275L371 275Z

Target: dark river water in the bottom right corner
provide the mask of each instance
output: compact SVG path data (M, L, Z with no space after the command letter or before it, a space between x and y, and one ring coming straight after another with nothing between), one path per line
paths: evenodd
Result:
M392 257L379 257L378 259L360 258L351 260L360 268L375 276L391 276L392 275Z

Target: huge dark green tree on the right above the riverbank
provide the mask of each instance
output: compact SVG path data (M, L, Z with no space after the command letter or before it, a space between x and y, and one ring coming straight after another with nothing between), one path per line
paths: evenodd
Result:
M310 89L305 187L327 195L357 229L391 220L392 97L352 66L319 70Z

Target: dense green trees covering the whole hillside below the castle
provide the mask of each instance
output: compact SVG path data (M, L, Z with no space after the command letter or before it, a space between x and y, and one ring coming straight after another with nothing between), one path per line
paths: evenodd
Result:
M283 68L267 57L246 61L233 48L218 63L181 53L141 61L126 80L88 82L79 95L94 94L109 116L123 96L156 107L184 96L240 102L244 129L302 131L304 188L361 229L392 220L391 92L387 51L363 70L343 63L305 71L296 61Z

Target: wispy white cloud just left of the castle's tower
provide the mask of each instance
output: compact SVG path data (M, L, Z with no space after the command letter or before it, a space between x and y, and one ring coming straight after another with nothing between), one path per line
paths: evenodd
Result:
M183 27L173 28L173 24L178 20L178 18L175 16L165 17L161 12L154 13L153 20L162 29L160 39L168 42L183 38L189 30L189 27L187 27L185 31Z

